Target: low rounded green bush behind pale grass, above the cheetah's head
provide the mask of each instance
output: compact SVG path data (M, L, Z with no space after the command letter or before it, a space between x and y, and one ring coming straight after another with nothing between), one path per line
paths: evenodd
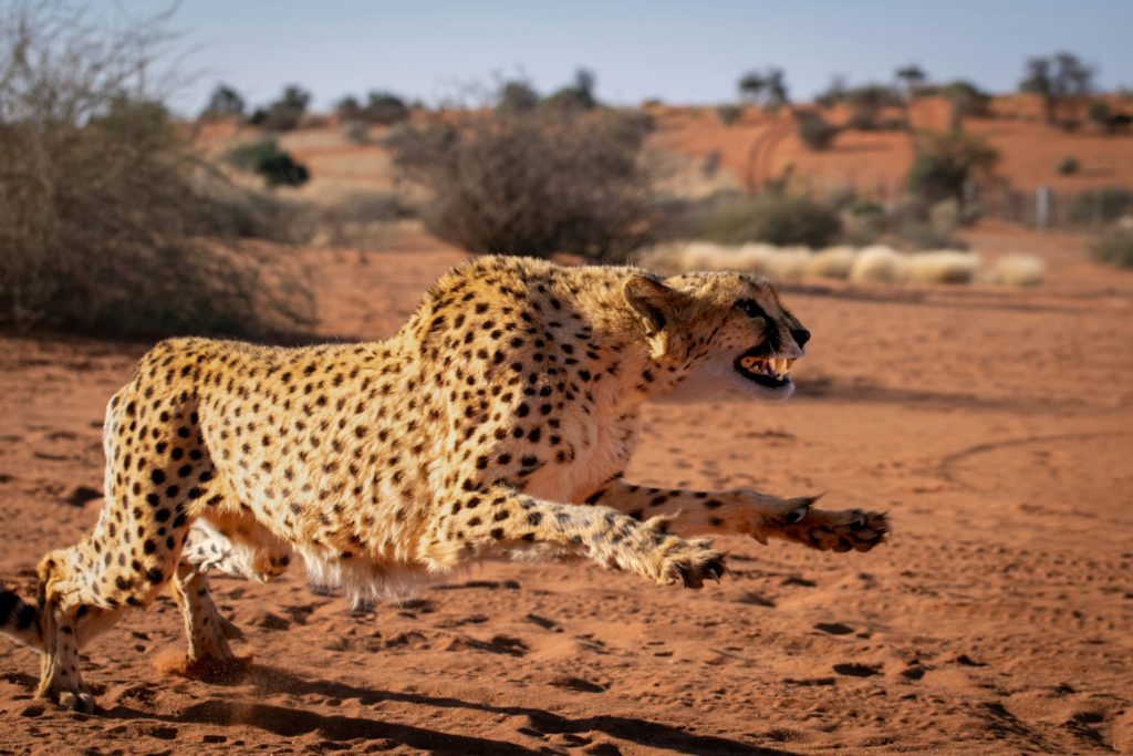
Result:
M842 230L837 213L806 197L766 193L755 199L715 201L700 211L691 229L717 244L765 241L812 248L830 244Z

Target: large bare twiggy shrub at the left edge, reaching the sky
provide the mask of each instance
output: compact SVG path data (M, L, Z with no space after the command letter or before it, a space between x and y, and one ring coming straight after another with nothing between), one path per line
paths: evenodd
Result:
M295 279L201 238L241 213L197 190L196 159L143 87L164 20L107 32L29 2L0 15L0 320L144 334L308 320Z

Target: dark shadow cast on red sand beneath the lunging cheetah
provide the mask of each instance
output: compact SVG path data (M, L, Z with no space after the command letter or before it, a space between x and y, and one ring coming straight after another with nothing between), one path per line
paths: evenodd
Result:
M240 682L252 683L257 691L265 694L316 695L342 700L357 699L366 706L373 706L382 702L399 702L434 708L467 708L487 714L522 716L527 719L527 722L519 728L519 731L527 734L571 736L587 732L603 732L638 746L668 749L683 754L717 753L750 756L791 756L793 753L751 746L715 736L696 734L678 727L637 717L597 715L571 719L530 706L496 706L478 702L467 702L460 698L375 690L332 680L307 679L278 668L261 664L253 665L248 676ZM297 737L317 731L320 736L331 741L346 741L358 738L386 739L433 753L544 753L531 750L506 740L453 734L366 717L323 715L301 708L218 698L194 704L174 715L152 714L121 705L112 710L107 710L103 714L112 719L153 719L171 724L250 725L281 737Z

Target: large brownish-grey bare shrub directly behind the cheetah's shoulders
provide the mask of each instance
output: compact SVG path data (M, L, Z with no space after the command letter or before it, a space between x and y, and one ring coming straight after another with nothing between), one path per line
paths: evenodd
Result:
M651 239L641 124L612 111L471 112L387 138L431 198L427 228L463 249L616 261Z

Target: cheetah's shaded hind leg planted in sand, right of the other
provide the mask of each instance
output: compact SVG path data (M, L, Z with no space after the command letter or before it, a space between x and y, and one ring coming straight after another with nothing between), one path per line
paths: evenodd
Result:
M244 634L216 610L204 572L182 561L173 576L172 589L185 619L188 651L184 657L161 656L156 666L165 672L213 682L242 677L252 657L237 656L228 642L242 638Z

